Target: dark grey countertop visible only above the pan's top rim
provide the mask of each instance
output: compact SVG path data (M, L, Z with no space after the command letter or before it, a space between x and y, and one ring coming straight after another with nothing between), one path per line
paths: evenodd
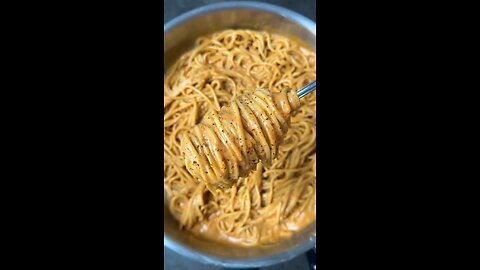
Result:
M176 16L192 10L197 7L201 7L208 4L219 3L219 2L230 2L222 0L165 0L163 2L163 7L165 10L165 18L163 23L170 21ZM303 16L317 21L316 7L317 3L315 0L261 0L256 2L265 2L274 4L277 6L282 6L290 10L296 11Z

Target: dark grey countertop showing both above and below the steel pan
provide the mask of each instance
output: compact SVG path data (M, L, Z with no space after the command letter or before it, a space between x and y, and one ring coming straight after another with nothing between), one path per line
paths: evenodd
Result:
M163 2L163 7L165 10L165 19L164 23L170 21L171 19L175 18L176 16L192 10L194 8L212 4L212 3L219 3L219 2L228 2L222 0L165 0ZM266 2L278 6L282 6L298 12L305 17L317 21L316 17L316 1L315 0L262 0L257 2ZM166 270L221 270L225 269L219 266L211 266L206 264L201 264L195 261L192 261L186 257L183 257L179 254L174 253L173 251L164 248L164 267ZM310 270L308 265L308 260L305 255L300 255L294 258L291 261L260 268L261 270Z

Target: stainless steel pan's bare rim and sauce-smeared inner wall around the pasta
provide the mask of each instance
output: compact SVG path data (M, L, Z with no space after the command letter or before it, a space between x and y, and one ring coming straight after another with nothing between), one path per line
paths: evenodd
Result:
M192 10L164 25L165 70L193 47L197 37L239 28L294 36L316 49L316 25L298 13L265 3L226 2ZM290 260L315 246L315 224L268 248L227 247L180 231L167 202L164 210L164 245L199 262L225 267L263 267Z

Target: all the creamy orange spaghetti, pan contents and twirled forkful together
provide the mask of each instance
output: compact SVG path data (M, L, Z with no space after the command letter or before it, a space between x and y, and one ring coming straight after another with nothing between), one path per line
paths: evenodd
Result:
M316 94L298 107L288 96L272 97L273 103L239 99L256 89L301 89L316 79L315 53L294 38L252 30L226 30L196 44L165 74L169 210L187 237L204 238L205 245L264 246L288 238L315 222ZM192 142L187 166L185 135ZM194 161L208 174L195 172Z

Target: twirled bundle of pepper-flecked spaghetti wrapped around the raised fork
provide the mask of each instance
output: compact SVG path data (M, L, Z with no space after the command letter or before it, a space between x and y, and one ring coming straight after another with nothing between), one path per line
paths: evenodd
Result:
M299 106L295 92L272 95L259 89L235 98L192 132L183 133L187 170L213 190L231 187L260 161L271 165L288 130L290 114Z

